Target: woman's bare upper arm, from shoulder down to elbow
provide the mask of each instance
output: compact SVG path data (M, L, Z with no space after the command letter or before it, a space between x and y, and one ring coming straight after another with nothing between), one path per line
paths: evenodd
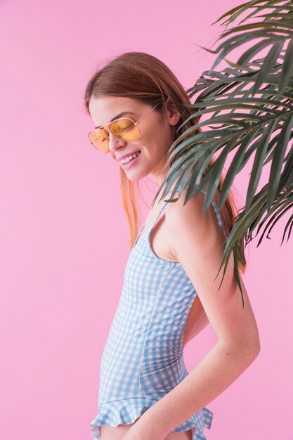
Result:
M197 291L207 318L219 339L237 344L259 344L254 313L241 279L245 308L234 273L231 255L223 283L221 265L226 237L219 226L214 207L203 213L204 194L184 204L185 191L166 211L171 252L180 262ZM215 200L216 201L216 200ZM219 272L219 275L217 276ZM217 276L217 278L216 278ZM240 277L241 278L241 277Z

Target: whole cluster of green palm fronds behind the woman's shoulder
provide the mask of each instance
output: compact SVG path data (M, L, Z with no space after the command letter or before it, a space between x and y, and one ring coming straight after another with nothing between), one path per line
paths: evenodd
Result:
M185 196L185 202L188 202L207 185L206 212L219 187L227 157L233 152L233 160L221 185L221 210L235 176L254 155L245 207L227 237L221 262L221 267L226 262L224 276L233 252L241 294L237 263L245 262L245 246L252 240L252 233L257 229L257 235L263 227L259 245L264 233L268 230L269 235L281 216L293 207L293 1L249 1L223 14L219 20L226 19L223 24L228 25L243 13L247 15L241 25L226 29L219 37L225 41L212 51L217 58L211 70L204 72L187 91L190 99L195 95L197 98L193 104L186 105L193 108L193 114L179 129L190 119L199 120L202 116L206 119L185 129L171 145L162 172L170 162L172 164L158 190L159 193L164 188L164 198L175 183L171 202L176 200L177 191L181 193L188 188ZM243 24L259 18L263 20ZM228 61L230 67L221 72L213 70L234 48L247 43L250 47L245 49L237 63ZM267 55L252 60L263 48L268 48ZM202 179L215 153L216 160ZM256 193L263 167L270 162L268 183ZM267 224L263 226L265 221ZM289 239L292 227L293 215L286 224L282 242L285 233Z

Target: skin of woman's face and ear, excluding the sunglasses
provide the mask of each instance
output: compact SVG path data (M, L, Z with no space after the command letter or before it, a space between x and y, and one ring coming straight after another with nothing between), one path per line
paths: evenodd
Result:
M148 113L138 124L141 136L137 141L122 141L106 127L109 133L108 154L124 169L129 180L138 181L151 174L160 184L168 169L160 176L157 174L166 162L167 151L173 142L174 126L180 119L180 113L176 105L169 106L171 110L164 110L163 114L155 110L150 111L152 107L143 101L122 96L92 97L89 102L89 112L95 127L103 127L111 119L117 119L121 112L125 112L121 117L131 117L134 122ZM140 153L135 159L126 164L121 162L121 157L137 152Z

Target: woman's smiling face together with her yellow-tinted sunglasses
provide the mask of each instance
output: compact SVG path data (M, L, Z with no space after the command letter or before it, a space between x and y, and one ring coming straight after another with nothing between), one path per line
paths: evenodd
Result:
M103 126L109 127L107 132L99 129L100 131L96 134L95 129L89 134L91 143L98 150L103 149L103 153L109 153L114 160L121 161L125 157L140 152L139 158L131 163L123 166L120 162L123 169L129 170L127 177L131 181L139 181L148 174L157 178L159 169L166 161L172 141L170 126L178 122L180 114L176 112L168 122L166 118L162 117L162 113L156 110L157 108L159 108L159 103L150 106L136 99L122 96L92 97L89 101L89 112L95 124L100 120L100 115L103 115L105 119L108 116L108 119L111 120L113 113L116 115L117 109L118 112L120 109L128 109L124 113L131 112L131 114L137 115L137 120L133 121L124 117L118 119L119 124L117 121L108 122ZM119 114L121 113L119 112ZM113 127L112 124L115 126ZM127 129L124 132L125 126ZM154 133L160 133L160 136L154 136Z

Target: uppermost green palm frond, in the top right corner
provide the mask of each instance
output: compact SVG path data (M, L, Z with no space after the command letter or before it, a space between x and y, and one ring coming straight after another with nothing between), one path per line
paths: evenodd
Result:
M249 47L245 53L237 60L238 67L246 65L252 57L259 53L263 48L271 46L268 55L258 73L257 81L254 84L254 91L259 89L261 84L265 82L266 77L275 65L282 48L287 45L286 56L284 63L282 63L282 75L279 82L279 96L286 89L287 83L292 75L293 70L293 2L292 1L249 1L247 4L237 6L228 11L228 13L222 15L216 22L219 22L223 18L227 20L223 24L230 24L240 14L245 11L253 9L245 18L241 20L243 23L251 18L262 18L260 22L252 22L247 25L237 25L230 30L222 32L217 41L226 39L226 37L232 36L222 44L220 44L214 51L208 49L211 53L219 53L214 64L211 66L211 70L223 60L228 53L242 44L247 44L249 41L256 40L252 47ZM259 15L261 12L265 12L263 15ZM216 23L215 22L215 23ZM261 41L259 41L259 39ZM233 63L232 63L233 64ZM211 72L210 70L210 72Z

